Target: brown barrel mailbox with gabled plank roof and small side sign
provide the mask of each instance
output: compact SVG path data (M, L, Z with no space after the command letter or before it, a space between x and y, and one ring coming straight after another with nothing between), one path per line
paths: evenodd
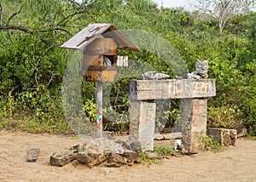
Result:
M90 24L63 43L61 48L84 48L84 79L89 82L114 81L117 66L125 66L128 61L127 56L119 59L118 49L141 51L112 24Z

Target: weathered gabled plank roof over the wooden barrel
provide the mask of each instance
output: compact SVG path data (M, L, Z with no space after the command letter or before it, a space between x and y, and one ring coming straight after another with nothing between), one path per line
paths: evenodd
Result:
M137 48L134 43L131 43L131 41L112 24L89 24L71 37L66 43L63 43L61 48L84 48L100 35L105 38L113 38L119 49L141 51L140 48Z

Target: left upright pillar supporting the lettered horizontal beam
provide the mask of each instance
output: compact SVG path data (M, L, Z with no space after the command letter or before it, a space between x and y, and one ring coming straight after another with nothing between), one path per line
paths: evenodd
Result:
M131 100L129 143L140 141L143 151L154 150L155 103Z

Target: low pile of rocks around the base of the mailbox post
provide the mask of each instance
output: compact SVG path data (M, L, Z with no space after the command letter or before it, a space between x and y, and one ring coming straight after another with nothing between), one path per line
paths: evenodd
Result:
M74 160L92 168L96 165L119 167L138 162L138 153L142 150L140 142L129 144L120 139L87 139L70 147L73 153L55 152L50 156L50 164L64 166Z

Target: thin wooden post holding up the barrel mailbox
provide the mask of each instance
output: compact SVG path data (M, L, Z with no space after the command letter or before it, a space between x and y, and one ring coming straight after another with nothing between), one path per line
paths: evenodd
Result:
M102 95L103 95L103 83L97 81L96 83L96 136L102 137Z

